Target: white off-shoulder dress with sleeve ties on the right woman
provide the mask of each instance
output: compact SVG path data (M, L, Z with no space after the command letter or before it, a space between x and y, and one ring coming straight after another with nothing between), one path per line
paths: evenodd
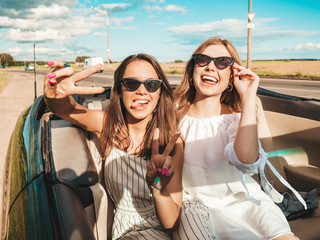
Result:
M234 113L205 119L186 115L182 119L180 129L185 140L183 188L186 194L209 208L217 239L238 239L235 238L238 234L240 239L270 239L289 233L288 222L274 204L281 202L283 197L268 182L265 164L305 207L306 203L273 168L260 142L259 159L254 164L238 160L233 144L240 117L240 113ZM260 174L265 192L251 173ZM254 218L248 217L251 215Z

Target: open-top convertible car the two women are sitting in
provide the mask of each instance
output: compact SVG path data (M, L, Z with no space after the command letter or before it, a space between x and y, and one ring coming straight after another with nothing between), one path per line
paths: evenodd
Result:
M110 93L108 87L75 99L102 109ZM298 191L320 188L320 101L259 88L257 109L259 138L273 166ZM21 113L6 156L2 239L107 238L112 219L99 226L92 194L99 178L94 145L90 133L51 113L43 96ZM289 191L267 167L265 174L279 192ZM320 239L320 217L289 223L300 239Z

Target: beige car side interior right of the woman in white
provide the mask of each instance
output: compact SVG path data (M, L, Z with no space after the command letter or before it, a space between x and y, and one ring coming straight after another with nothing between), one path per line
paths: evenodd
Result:
M286 95L272 97L262 89L258 96L259 139L269 161L297 191L319 188L320 102ZM290 192L270 168L266 167L265 174L279 192ZM309 214L289 224L300 239L320 237L319 216Z

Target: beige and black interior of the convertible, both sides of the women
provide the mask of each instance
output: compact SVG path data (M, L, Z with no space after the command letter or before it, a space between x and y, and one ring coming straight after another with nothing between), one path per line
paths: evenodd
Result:
M89 109L104 109L110 91L109 88L107 94L79 96L78 102ZM297 191L320 188L319 107L318 101L275 96L263 89L258 92L259 139L270 162ZM107 234L110 238L112 202L103 205L94 200L99 193L93 186L98 185L101 189L99 179L103 178L98 175L102 163L97 138L51 112L43 114L41 124L44 139L47 139L43 143L43 149L46 149L43 160L46 172L52 178L50 191L55 196L54 212L64 231L61 234L68 239L80 239L79 236L106 239ZM268 167L265 174L279 192L290 191ZM105 193L101 194L107 198ZM108 211L108 217L97 217L99 207ZM308 214L289 223L300 239L320 239L319 216Z

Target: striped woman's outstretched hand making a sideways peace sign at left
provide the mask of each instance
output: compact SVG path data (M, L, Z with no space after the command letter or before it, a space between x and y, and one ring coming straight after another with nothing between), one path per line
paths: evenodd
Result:
M64 68L64 62L54 61L48 65L53 67L44 79L44 96L49 99L62 99L73 94L98 94L103 87L78 87L75 85L101 69L101 64L74 74L73 68Z

